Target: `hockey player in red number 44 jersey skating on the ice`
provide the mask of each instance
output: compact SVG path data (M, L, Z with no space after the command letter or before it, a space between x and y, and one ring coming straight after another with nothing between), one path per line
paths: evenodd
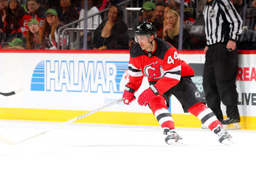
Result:
M194 75L194 70L181 60L171 44L156 38L155 35L156 29L150 22L141 23L135 29L136 44L130 48L129 82L123 94L124 103L129 105L136 99L134 92L141 86L143 76L146 76L150 86L140 94L138 103L141 106L149 105L163 128L167 144L182 143L182 138L175 132L173 118L167 109L169 98L174 95L185 111L198 117L218 135L220 143L231 145L231 135L222 128L212 110L205 106L205 100L190 79Z

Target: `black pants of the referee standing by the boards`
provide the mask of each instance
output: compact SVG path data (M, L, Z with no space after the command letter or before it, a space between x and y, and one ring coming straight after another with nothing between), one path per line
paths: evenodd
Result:
M227 52L227 43L209 46L205 55L203 87L207 106L217 118L223 119L220 102L227 106L227 116L239 119L237 108L236 75L237 49Z

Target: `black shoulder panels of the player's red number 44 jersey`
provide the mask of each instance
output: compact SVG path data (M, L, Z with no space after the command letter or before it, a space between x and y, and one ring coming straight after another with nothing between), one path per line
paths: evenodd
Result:
M155 38L156 39L156 51L153 54L153 56L157 56L160 59L164 59L164 55L167 52L167 50L171 47L173 47L171 44L167 43L163 39ZM147 53L140 48L140 45L138 43L133 44L130 48L130 55L132 58L139 57L139 56L145 56Z

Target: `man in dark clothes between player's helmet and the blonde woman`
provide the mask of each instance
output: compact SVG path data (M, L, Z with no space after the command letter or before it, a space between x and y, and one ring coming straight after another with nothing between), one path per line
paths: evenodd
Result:
M155 19L153 25L156 28L156 34L158 38L163 38L164 7L165 4L157 3L155 8Z

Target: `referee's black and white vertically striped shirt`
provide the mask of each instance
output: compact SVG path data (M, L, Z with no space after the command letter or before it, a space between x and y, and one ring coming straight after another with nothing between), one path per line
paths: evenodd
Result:
M236 41L243 21L230 0L213 0L204 6L206 44Z

